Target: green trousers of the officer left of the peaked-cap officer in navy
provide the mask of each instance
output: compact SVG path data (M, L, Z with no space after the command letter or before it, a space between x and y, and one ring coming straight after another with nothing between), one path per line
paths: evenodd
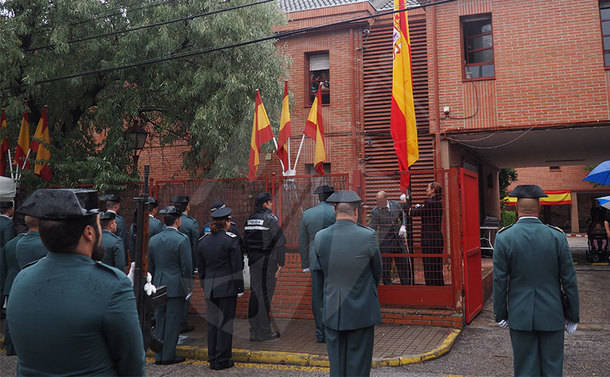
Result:
M155 337L163 341L163 350L155 355L157 361L176 359L176 345L182 317L184 317L184 297L169 297L165 307L156 310Z

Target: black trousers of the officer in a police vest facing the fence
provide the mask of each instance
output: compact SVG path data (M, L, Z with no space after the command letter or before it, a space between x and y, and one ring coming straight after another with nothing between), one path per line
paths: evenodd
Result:
M265 337L272 333L271 300L275 292L277 271L276 262L268 256L250 256L250 300L248 302L248 321L250 335Z

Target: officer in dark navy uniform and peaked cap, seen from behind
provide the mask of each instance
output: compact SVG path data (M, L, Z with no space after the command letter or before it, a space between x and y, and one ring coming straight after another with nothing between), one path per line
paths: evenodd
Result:
M243 257L236 234L229 231L231 208L212 211L210 233L198 245L199 277L205 294L208 361L211 369L233 366L233 319L244 292Z

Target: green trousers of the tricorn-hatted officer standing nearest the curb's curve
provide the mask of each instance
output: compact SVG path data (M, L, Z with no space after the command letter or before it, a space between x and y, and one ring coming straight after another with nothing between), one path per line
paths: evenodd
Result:
M326 328L330 375L360 377L371 374L375 326L354 330Z

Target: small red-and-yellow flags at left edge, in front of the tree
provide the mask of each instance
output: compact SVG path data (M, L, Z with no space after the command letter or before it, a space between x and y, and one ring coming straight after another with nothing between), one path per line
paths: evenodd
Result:
M0 121L0 128L3 133L7 131L6 113L2 109L2 118ZM2 140L0 144L0 176L6 175L6 167L8 161L8 167L10 169L11 178L18 181L21 177L21 172L25 169L30 168L30 157L35 156L34 161L34 174L40 176L46 182L51 180L53 175L51 168L49 167L49 161L51 160L51 151L48 145L51 144L51 136L49 134L49 121L47 116L47 107L45 106L42 110L42 116L38 121L36 132L30 143L30 122L28 112L23 113L21 118L21 128L19 129L19 137L17 138L17 148L15 149L15 157L11 156L11 148L8 140L8 135ZM8 157L8 160L7 160ZM14 166L14 169L13 169Z

